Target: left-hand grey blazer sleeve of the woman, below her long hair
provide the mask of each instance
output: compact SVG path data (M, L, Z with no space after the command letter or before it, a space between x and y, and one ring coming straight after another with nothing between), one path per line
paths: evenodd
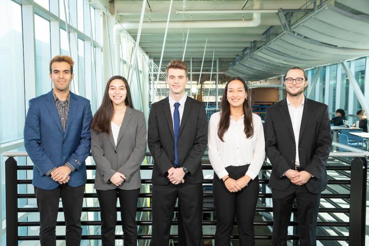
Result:
M100 134L106 134L104 132ZM116 173L112 168L109 160L104 156L104 150L101 146L99 133L91 131L91 152L93 160L96 164L96 170L101 173L102 178L106 184L110 183L110 178Z

